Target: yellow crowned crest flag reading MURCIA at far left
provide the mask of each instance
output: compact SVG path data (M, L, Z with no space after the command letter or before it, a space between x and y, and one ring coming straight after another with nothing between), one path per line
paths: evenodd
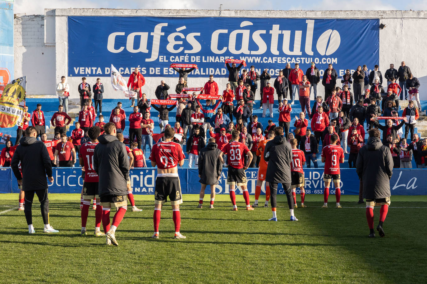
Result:
M0 98L0 127L13 127L22 122L25 106L26 76L13 80L4 87Z

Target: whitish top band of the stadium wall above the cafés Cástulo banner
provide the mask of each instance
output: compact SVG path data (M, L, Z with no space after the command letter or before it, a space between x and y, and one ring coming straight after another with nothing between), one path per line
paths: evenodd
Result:
M44 9L46 16L277 17L277 18L427 18L427 11Z

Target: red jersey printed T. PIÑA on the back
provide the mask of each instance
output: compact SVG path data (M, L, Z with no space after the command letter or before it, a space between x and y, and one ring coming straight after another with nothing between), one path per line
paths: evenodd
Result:
M179 143L162 141L153 145L149 159L157 164L158 169L170 169L178 166L178 161L184 158Z

